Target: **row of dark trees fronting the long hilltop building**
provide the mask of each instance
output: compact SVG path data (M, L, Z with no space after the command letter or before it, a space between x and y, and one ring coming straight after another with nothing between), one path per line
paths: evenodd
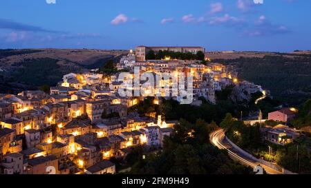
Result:
M171 59L182 59L182 60L199 60L204 61L205 60L205 54L203 52L198 52L196 54L192 54L191 52L182 53L182 52L171 52L167 50L160 50L158 53L155 53L153 50L150 50L146 54L146 59L149 60L160 60L165 59L166 57L169 57Z

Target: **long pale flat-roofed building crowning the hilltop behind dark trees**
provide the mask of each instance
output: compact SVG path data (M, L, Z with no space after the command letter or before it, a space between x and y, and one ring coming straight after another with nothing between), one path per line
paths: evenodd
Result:
M182 52L182 53L187 53L191 52L192 54L196 54L197 52L205 52L205 48L202 47L169 47L169 46L159 46L159 47L149 47L149 46L144 46L140 45L136 47L135 50L135 55L136 55L136 61L146 61L146 54L150 51L153 50L154 52L159 52L160 50L162 51L171 51L171 52Z

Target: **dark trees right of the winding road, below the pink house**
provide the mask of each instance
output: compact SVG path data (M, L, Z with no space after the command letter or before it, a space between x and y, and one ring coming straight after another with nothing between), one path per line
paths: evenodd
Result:
M285 146L276 145L261 139L260 125L247 126L242 121L236 121L231 114L226 115L220 127L226 130L226 136L233 143L257 158L278 163L299 174L311 173L310 138L301 137Z

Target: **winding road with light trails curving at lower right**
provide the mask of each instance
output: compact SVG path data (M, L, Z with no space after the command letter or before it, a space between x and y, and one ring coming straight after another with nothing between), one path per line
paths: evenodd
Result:
M237 149L235 146L229 143L227 138L225 137L225 131L223 129L218 129L215 132L212 132L209 136L209 140L211 144L218 147L219 149L226 149L229 156L233 159L238 161L243 165L250 166L252 168L261 165L263 169L267 172L267 174L288 174L282 170L276 170L272 167L268 167L260 162L259 159L254 157L250 157L250 154L246 155L246 152L242 152L241 149ZM272 164L273 165L273 164Z

